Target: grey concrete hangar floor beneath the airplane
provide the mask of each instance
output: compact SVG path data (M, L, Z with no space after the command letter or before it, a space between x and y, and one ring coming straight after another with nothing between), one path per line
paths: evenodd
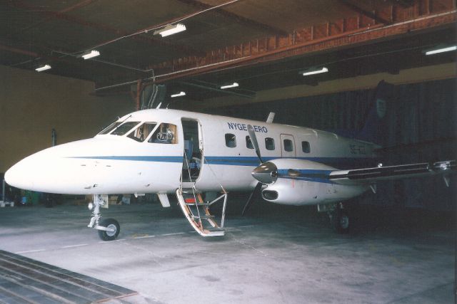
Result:
M138 291L130 303L454 302L453 224L393 226L373 210L341 236L314 208L258 203L241 217L242 201L222 239L191 231L173 203L110 206L112 242L86 228L86 206L5 207L0 249Z

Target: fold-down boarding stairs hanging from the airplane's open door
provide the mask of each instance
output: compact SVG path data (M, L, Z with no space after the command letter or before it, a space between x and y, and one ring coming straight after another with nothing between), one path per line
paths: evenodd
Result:
M225 235L224 219L227 203L225 192L213 201L204 201L201 192L195 188L194 183L181 183L181 187L176 190L176 196L184 216L201 236ZM218 201L224 201L220 224L217 223L216 216L210 211L210 207Z

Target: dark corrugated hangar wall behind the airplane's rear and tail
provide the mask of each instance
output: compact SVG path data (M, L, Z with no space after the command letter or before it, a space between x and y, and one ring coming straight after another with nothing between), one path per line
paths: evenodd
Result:
M396 85L386 112L385 164L433 162L456 158L457 79ZM209 112L265 120L320 130L361 130L373 105L374 89L290 98L238 105ZM455 210L457 179L446 187L441 177L378 183L378 193L366 194L366 204Z

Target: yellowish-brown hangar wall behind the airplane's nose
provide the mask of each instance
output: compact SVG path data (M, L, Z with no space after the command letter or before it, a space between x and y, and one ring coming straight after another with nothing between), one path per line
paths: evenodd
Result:
M101 98L94 83L0 65L0 172L57 143L93 137L102 127L134 110L126 96Z

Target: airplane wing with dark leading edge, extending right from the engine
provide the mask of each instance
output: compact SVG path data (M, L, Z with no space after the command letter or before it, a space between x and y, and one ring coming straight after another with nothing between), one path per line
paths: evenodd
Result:
M456 160L443 162L423 162L400 164L397 166L374 167L366 169L339 170L328 175L336 184L371 184L379 180L423 177L426 175L448 174L456 169Z

